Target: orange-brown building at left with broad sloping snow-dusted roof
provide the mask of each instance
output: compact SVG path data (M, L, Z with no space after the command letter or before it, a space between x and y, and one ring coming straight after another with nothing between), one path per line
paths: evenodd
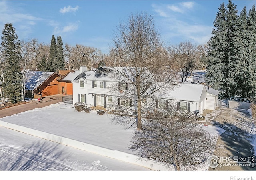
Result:
M57 79L60 77L62 77L62 75L56 72L45 72L45 71L26 72L25 74L26 97L34 98L34 94L42 94L42 97L58 94Z

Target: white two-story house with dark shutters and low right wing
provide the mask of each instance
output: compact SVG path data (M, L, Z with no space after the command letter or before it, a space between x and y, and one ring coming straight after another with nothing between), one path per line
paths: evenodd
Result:
M95 72L80 71L81 74L73 81L73 102L84 102L88 106L102 106L108 108L108 104L118 101L118 104L125 102L127 106L132 104L131 101L122 100L120 93L132 91L129 82L118 81L115 70L120 67L100 67ZM122 69L121 69L122 70ZM125 78L124 78L125 79ZM116 92L112 87L116 86ZM156 94L155 108L168 108L169 103L176 104L177 110L184 110L194 113L198 111L202 114L204 110L215 110L219 91L209 88L203 84L187 81L177 85L169 85L163 95ZM110 90L111 89L111 90ZM129 93L127 93L129 94ZM125 105L126 105L125 104Z

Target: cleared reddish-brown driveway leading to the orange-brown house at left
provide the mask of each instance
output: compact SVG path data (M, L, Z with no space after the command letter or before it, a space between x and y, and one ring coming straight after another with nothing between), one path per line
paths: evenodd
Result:
M11 116L11 115L18 114L18 113L28 111L28 110L32 110L35 108L42 108L45 106L49 106L50 104L62 102L63 96L64 95L62 95L62 94L46 96L40 101L31 100L32 102L29 102L26 104L21 104L18 106L12 106L10 108L2 109L2 110L0 110L0 118L6 117L6 116Z

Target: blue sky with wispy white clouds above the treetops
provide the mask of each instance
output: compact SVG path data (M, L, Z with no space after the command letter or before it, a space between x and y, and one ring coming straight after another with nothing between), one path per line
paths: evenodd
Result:
M199 45L210 39L222 2L228 0L0 0L0 29L12 23L20 40L36 38L50 44L52 35L60 35L64 44L108 53L118 24L131 13L148 12L166 44L190 41ZM232 2L240 12L244 6L248 11L256 0Z

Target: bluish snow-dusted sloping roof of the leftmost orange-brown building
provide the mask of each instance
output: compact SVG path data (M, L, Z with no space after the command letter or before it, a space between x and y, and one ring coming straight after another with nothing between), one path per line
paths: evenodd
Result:
M28 71L25 74L26 90L34 91L38 86L40 86L45 80L52 76L55 72L47 71Z

